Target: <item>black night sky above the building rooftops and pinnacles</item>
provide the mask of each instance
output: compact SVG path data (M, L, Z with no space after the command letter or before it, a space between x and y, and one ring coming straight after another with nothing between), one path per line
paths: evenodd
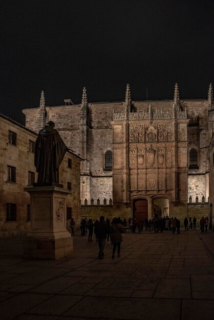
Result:
M1 4L0 112L81 102L207 98L214 1L19 0ZM214 83L213 83L214 84Z

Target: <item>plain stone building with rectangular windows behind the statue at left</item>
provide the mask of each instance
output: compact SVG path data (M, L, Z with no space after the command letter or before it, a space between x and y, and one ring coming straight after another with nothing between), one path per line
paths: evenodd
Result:
M25 187L37 180L34 143L37 134L0 115L0 237L25 235L30 229L30 195ZM67 218L79 219L81 157L67 151L60 165L60 184L71 189Z

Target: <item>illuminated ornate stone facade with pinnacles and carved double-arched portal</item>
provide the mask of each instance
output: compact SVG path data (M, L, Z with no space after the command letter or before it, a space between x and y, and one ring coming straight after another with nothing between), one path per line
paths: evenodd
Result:
M212 100L211 84L208 99L181 100L176 84L174 99L164 101L133 101L127 85L122 102L88 103L83 88L80 104L66 99L48 107L42 92L39 107L23 112L26 127L36 132L54 121L84 158L82 209L92 203L93 212L94 204L113 201L112 216L182 219L208 214Z

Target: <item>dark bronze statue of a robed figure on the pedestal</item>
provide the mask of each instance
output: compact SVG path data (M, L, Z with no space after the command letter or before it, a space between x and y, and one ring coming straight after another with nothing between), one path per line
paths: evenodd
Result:
M59 182L58 169L68 148L54 126L54 122L49 121L36 139L34 164L38 172L37 186L52 186Z

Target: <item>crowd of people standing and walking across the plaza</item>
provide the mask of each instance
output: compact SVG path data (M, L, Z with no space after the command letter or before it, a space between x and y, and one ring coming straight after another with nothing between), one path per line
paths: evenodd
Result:
M190 217L187 219L185 217L183 224L185 227L185 231L196 229L197 219L194 217L193 219ZM200 219L200 229L201 232L207 232L209 224L209 218L202 217ZM71 235L74 235L74 227L75 221L72 218L70 221L70 232ZM120 244L122 242L122 234L127 230L130 230L132 233L141 233L143 230L147 232L154 231L155 233L163 232L163 231L172 231L173 234L180 234L181 222L176 217L169 218L166 217L154 217L153 219L142 219L142 218L130 218L126 220L125 218L121 220L120 217L114 218L112 221L107 218L105 220L104 216L101 216L99 220L95 222L92 219L87 220L87 218L82 218L80 222L80 230L82 236L87 236L88 241L93 241L92 236L95 234L96 242L99 244L99 259L104 259L104 247L106 240L108 244L113 244L113 253L112 259L115 258L115 253L117 250L117 256L120 257ZM111 241L111 242L110 242Z

